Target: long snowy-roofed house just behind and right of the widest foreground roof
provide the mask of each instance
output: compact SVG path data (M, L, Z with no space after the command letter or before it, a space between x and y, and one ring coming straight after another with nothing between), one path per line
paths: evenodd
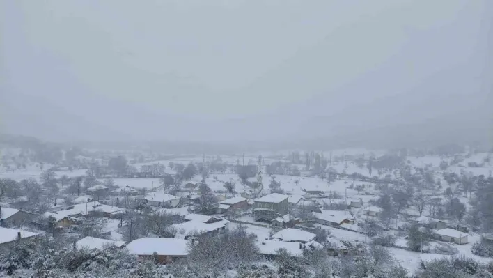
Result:
M188 216L188 215L187 215ZM200 220L190 220L180 224L171 225L175 231L175 238L194 238L196 236L214 236L226 232L229 229L229 221L217 219L215 222L204 223Z

